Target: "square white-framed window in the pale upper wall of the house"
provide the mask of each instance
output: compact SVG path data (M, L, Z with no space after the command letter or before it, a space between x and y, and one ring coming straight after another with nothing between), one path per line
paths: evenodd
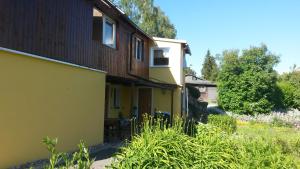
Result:
M169 58L166 56L166 48L153 49L153 65L154 66L168 66Z

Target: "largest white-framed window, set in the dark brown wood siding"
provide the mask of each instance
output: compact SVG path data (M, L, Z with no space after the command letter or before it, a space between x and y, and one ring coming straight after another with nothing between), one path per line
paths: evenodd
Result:
M108 18L107 16L103 17L103 44L116 48L116 23Z

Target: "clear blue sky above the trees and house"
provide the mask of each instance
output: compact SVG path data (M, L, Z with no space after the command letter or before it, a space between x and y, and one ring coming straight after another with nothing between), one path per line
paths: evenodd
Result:
M188 65L199 74L208 49L246 49L264 43L280 56L279 73L300 66L300 0L155 0L189 42Z

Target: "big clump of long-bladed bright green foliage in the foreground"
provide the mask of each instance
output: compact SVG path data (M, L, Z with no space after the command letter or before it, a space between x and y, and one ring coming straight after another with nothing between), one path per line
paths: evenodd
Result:
M182 126L147 127L110 168L296 168L291 156L261 137L228 134L210 124L199 124L190 137Z

